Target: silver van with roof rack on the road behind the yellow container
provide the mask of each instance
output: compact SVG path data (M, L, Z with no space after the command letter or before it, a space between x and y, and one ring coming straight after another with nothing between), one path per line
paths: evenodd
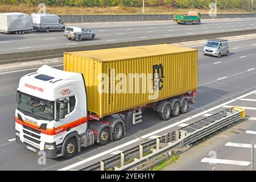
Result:
M221 57L229 55L228 40L210 39L204 45L204 55Z

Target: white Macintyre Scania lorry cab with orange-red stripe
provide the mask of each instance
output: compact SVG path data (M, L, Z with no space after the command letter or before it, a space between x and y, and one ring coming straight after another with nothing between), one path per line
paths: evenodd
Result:
M80 146L94 143L87 130L86 90L81 73L44 65L20 79L15 111L16 140L49 158L73 156ZM76 139L75 139L75 138ZM79 149L80 150L80 149Z

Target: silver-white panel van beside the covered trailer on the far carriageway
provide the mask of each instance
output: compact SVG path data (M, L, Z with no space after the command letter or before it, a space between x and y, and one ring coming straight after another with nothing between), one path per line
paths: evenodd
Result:
M33 29L49 32L51 30L65 30L65 24L59 16L54 14L31 14Z

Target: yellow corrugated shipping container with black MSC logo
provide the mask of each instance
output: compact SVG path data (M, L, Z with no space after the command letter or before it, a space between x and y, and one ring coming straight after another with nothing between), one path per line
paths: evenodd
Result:
M197 50L170 44L65 52L82 73L88 110L105 117L197 90Z

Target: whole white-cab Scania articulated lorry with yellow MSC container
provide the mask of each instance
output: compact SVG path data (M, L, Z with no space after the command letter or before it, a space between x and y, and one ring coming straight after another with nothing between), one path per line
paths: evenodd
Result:
M20 78L16 142L69 159L81 148L121 139L129 118L142 122L145 108L163 120L186 113L196 90L196 49L161 44L65 52L64 71L43 65Z

